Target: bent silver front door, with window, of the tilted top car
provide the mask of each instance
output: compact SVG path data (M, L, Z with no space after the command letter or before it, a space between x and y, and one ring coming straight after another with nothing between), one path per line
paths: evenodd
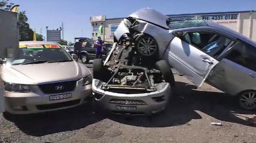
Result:
M201 87L211 69L219 63L217 56L230 42L211 31L183 31L175 34L164 57L172 67Z

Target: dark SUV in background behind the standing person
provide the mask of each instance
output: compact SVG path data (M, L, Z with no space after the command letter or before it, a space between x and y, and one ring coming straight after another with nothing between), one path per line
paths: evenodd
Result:
M90 43L90 44L89 44ZM105 43L102 51L102 59L106 59L106 55L110 52L112 43ZM84 44L81 49L80 59L82 63L88 63L90 60L94 60L96 58L96 48L93 47L93 42L88 41L87 44Z

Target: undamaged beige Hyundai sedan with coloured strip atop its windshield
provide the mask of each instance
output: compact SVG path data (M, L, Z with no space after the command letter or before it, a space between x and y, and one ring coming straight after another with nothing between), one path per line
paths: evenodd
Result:
M19 42L19 56L1 66L5 109L14 114L69 108L87 101L92 76L55 42Z

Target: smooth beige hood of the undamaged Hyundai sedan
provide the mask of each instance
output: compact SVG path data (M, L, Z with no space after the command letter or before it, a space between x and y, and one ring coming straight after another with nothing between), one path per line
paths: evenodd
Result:
M90 70L77 62L4 65L1 69L1 77L4 81L19 84L71 81L81 79L89 74L91 74Z

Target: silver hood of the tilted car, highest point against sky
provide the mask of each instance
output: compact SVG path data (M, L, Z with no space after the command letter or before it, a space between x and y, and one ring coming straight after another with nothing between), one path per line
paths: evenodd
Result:
M132 13L131 15L129 15L129 17L134 17L137 19L145 20L147 22L157 24L164 28L169 28L166 24L166 19L168 18L168 16L166 16L154 9L151 9L151 8L140 9L140 10Z

